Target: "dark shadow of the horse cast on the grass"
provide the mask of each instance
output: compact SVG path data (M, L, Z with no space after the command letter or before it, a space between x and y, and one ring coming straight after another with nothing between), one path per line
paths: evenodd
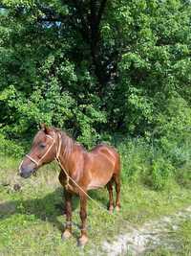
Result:
M103 191L91 191L89 195L103 207L107 206L107 199ZM73 197L73 211L79 207L79 198ZM97 207L97 206L94 206ZM63 189L57 188L53 193L44 198L17 199L0 203L0 221L10 218L12 215L34 215L41 221L53 223L60 231L64 229L64 223L57 220L58 216L64 215ZM74 223L74 225L77 225Z

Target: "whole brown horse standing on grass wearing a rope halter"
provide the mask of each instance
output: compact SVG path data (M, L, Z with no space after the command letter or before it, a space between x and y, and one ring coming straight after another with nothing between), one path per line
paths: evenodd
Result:
M58 128L43 125L35 135L32 150L23 159L19 170L22 177L29 177L44 164L57 159L61 172L59 181L64 187L66 228L63 239L72 236L72 197L80 198L81 236L78 244L88 241L86 230L87 191L107 185L109 191L109 211L114 210L113 183L116 183L116 209L120 201L120 160L117 151L107 145L97 145L92 151L85 151L78 143Z

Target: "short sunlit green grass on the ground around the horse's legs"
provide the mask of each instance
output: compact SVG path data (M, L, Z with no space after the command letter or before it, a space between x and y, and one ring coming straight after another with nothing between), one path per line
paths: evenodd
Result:
M4 157L0 162L0 255L80 255L82 251L76 246L80 234L77 197L73 201L74 236L67 242L61 240L65 217L57 166L47 165L36 177L22 179L17 175L17 160ZM21 185L21 191L14 191L15 183ZM119 213L109 215L89 200L89 243L84 254L90 255L94 251L96 255L100 244L105 239L112 241L119 232L128 230L129 222L140 225L191 204L190 192L173 182L168 189L156 192L138 183L129 185L123 176ZM106 189L93 191L90 195L101 205L107 205ZM186 235L183 237L186 239Z

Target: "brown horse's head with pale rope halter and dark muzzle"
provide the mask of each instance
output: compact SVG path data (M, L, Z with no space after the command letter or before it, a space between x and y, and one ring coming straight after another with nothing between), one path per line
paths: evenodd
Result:
M41 127L33 139L32 150L26 154L19 167L22 177L31 176L39 167L52 162L55 158L55 131L46 125L41 125Z

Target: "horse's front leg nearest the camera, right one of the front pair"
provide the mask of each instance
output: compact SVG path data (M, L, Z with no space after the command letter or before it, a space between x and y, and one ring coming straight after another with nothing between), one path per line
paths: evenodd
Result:
M86 191L85 191L86 192ZM80 218L81 218L81 236L78 240L79 246L84 246L88 242L86 221L87 221L87 196L83 192L79 193L80 198Z

